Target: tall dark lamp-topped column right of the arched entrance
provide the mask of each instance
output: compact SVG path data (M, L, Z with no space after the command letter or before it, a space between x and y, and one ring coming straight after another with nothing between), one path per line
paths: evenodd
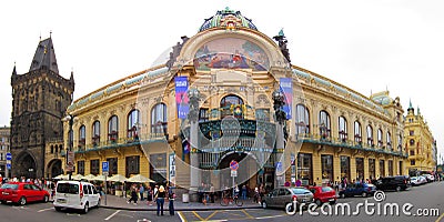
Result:
M275 121L278 122L276 125L276 149L284 149L284 123L286 121L286 113L283 110L283 107L285 105L285 95L284 93L280 90L276 89L272 93L273 97L273 108L274 108L274 115L275 115ZM282 186L283 185L283 176L285 175L285 170L283 167L284 157L282 152L276 152L276 165L275 165L275 179L274 179L274 186ZM283 172L281 172L283 171Z

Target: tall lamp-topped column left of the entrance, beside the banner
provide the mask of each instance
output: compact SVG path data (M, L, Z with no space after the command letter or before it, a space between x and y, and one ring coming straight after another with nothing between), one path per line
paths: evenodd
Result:
M196 193L199 182L200 182L200 173L199 173L199 155L194 152L194 148L199 144L199 102L201 100L201 94L198 89L190 89L188 92L188 98L190 99L190 111L188 114L188 119L190 121L190 191L191 194ZM194 195L192 195L194 198Z

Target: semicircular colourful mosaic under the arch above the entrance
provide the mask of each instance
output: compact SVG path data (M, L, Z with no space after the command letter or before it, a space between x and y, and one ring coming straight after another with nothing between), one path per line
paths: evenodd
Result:
M265 51L258 44L238 38L210 41L194 54L196 70L252 69L266 71L270 67Z

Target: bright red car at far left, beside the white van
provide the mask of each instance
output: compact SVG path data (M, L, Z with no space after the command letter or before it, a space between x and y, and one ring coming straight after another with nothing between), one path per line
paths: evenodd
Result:
M8 182L0 188L0 202L13 202L24 205L28 202L48 202L48 191L28 182Z

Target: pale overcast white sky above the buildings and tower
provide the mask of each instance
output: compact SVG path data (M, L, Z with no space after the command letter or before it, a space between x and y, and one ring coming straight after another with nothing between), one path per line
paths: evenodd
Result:
M266 3L265 3L266 2ZM152 65L230 7L269 37L281 28L292 63L369 97L389 89L420 107L444 152L440 114L444 1L1 1L0 125L10 124L10 75L29 71L41 36L52 31L60 74L74 72L78 99Z

